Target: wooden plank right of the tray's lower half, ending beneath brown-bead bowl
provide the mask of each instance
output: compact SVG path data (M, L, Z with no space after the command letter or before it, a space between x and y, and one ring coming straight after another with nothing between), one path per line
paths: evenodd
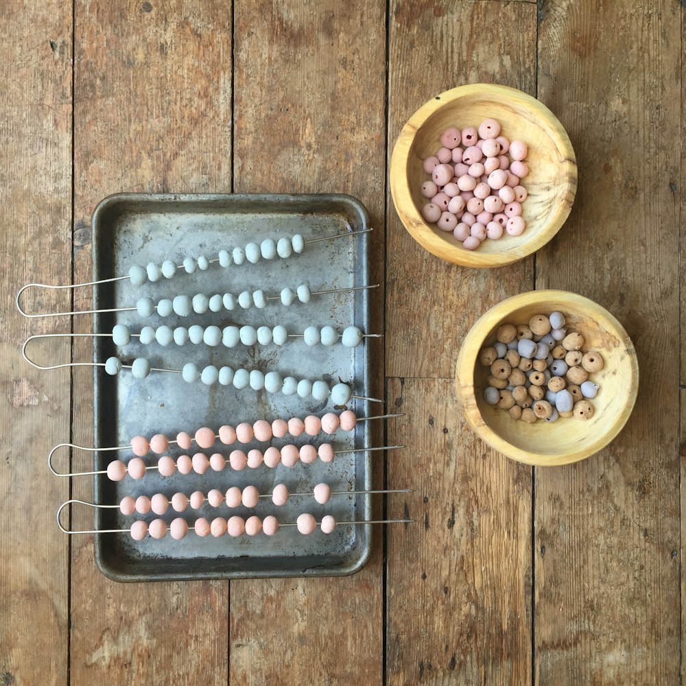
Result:
M388 684L531 680L530 469L467 425L448 379L390 379Z

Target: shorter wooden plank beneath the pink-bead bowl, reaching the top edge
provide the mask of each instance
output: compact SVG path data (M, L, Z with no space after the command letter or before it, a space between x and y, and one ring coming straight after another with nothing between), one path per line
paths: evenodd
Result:
M535 94L532 5L394 0L390 12L389 156L405 121L436 93L495 82ZM471 324L499 300L533 287L533 259L479 271L444 262L416 244L390 196L387 222L386 374L452 377Z

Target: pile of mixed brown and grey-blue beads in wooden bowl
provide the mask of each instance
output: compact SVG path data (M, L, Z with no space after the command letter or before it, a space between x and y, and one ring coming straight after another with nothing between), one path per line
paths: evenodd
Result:
M497 342L482 348L479 360L490 367L484 399L510 416L533 424L558 417L590 419L598 383L589 379L604 366L598 351L584 353L584 337L567 332L565 316L534 315L527 324L502 324Z

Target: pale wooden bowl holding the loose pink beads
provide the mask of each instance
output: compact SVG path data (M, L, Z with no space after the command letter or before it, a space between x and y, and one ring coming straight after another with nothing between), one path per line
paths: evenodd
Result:
M423 220L420 211L429 200L420 189L430 180L423 161L441 147L440 134L449 126L478 127L489 117L501 123L510 141L529 146L530 171L522 180L528 191L522 212L526 228L521 236L486 239L471 251ZM576 157L562 124L536 98L506 86L471 84L436 95L405 124L393 148L390 189L405 228L429 252L465 267L498 267L536 252L564 224L576 194Z

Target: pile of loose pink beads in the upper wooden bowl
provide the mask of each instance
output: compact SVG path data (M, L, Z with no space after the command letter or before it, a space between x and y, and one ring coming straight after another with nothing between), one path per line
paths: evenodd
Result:
M519 236L526 226L521 204L527 191L520 180L529 173L528 146L499 134L495 119L478 129L453 126L441 134L442 147L424 161L431 180L421 187L430 200L422 216L451 231L466 250L476 250L486 238L499 239L504 230Z

